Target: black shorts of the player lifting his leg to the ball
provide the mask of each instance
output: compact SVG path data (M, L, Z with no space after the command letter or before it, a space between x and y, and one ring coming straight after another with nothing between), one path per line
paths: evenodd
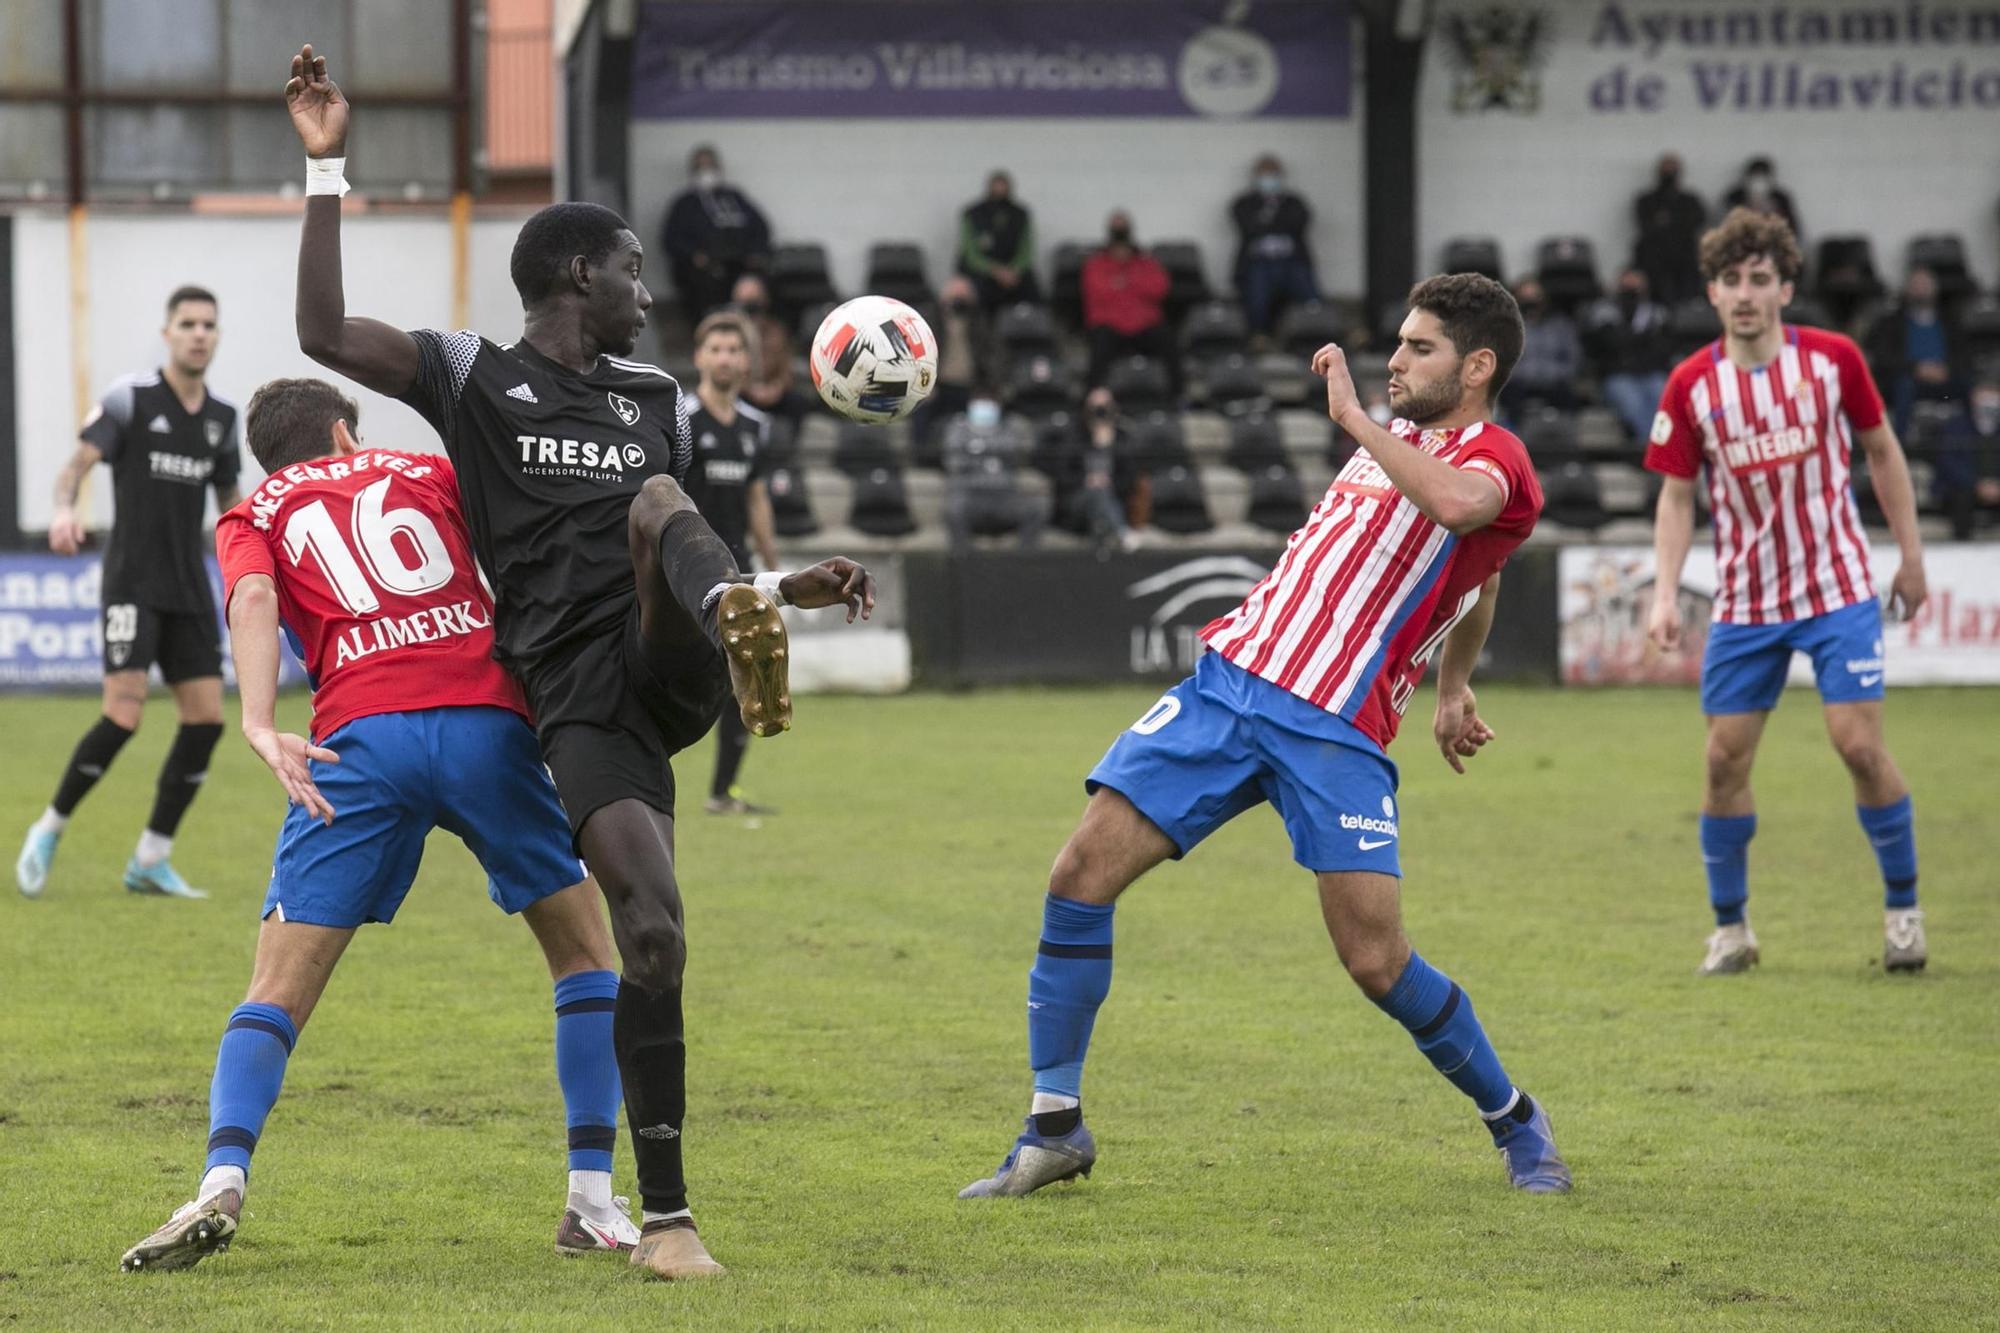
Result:
M668 666L646 660L638 600L606 632L522 673L542 763L570 817L570 833L612 801L674 813L670 759L716 721L730 673L708 644Z

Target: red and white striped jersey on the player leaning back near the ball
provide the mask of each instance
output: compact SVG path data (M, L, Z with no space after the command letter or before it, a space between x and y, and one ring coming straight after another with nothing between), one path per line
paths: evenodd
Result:
M1446 630L1534 530L1542 484L1526 446L1492 422L1390 430L1452 466L1490 476L1500 516L1454 536L1356 450L1278 564L1202 640L1244 671L1334 713L1388 747Z

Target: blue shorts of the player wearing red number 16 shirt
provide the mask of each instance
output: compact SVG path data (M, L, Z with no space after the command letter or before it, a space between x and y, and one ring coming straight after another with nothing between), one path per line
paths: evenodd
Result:
M432 829L472 849L486 893L508 913L584 879L534 729L518 713L376 713L320 745L340 755L338 765L312 761L334 823L296 805L286 813L264 917L324 927L394 921Z

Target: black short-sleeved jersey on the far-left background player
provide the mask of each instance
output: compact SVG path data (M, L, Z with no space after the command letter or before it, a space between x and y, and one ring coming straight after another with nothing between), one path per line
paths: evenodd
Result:
M190 412L158 370L128 374L104 392L78 438L112 470L104 604L210 608L202 516L208 486L230 490L242 466L236 404L208 394Z

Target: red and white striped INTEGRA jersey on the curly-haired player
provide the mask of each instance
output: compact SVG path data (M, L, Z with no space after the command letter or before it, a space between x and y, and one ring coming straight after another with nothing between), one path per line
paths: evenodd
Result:
M1882 394L1852 340L1786 326L1778 358L1742 370L1712 342L1674 368L1646 466L1694 478L1708 464L1716 620L1778 624L1874 596L1854 508L1854 432Z

